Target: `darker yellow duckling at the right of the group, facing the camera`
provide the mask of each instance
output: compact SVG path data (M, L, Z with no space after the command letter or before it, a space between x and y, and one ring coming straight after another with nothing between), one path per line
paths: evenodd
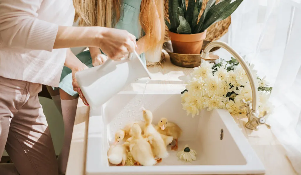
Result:
M172 150L178 150L178 138L182 135L182 129L175 123L169 122L166 118L162 118L155 127L161 134L172 136L175 139L175 145Z

